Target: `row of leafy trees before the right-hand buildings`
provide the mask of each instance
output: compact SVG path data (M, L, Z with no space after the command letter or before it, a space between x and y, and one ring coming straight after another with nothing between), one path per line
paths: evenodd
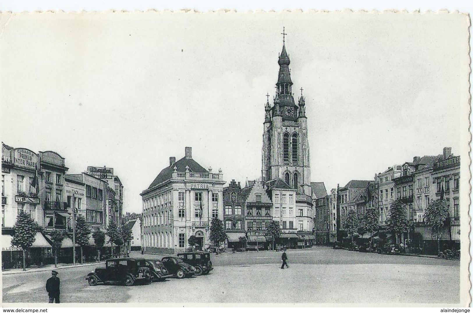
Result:
M437 248L440 252L440 237L442 229L449 215L448 209L445 206L444 200L433 200L424 212L424 221L429 226L432 234L437 239ZM379 215L377 208L366 209L364 215L359 218L357 213L353 210L348 212L347 218L343 222L343 227L351 238L353 243L353 236L355 234L364 235L373 233L379 229ZM389 215L386 219L386 229L389 233L394 235L395 242L403 233L411 229L405 205L401 200L394 200L389 207Z

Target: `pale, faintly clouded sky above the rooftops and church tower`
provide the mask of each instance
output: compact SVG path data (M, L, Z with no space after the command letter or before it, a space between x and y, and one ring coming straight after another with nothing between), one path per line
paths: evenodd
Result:
M467 144L462 15L43 13L0 23L2 141L56 151L70 173L113 167L126 211L140 212L140 192L186 146L226 181L261 175L283 26L313 181L373 179Z

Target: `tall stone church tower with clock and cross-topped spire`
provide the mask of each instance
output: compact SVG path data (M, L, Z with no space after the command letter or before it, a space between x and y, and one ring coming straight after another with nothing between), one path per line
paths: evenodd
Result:
M266 95L262 177L264 181L280 178L297 189L298 194L311 196L306 103L302 88L298 103L294 101L284 31L282 35L279 74L272 105L270 95Z

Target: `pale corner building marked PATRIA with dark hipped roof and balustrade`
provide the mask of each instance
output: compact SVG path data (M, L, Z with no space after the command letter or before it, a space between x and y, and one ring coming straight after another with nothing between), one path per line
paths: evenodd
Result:
M212 173L192 158L192 148L166 166L140 193L143 203L143 247L151 253L177 253L189 248L188 239L207 248L212 218L223 219L222 171Z

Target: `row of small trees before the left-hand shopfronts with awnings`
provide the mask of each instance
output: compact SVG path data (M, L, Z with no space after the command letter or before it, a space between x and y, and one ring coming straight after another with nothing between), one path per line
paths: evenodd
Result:
M21 247L23 250L23 270L26 270L27 251L35 242L36 232L40 229L41 227L26 212L20 211L18 213L17 221L15 226L13 226L11 244ZM92 233L92 230L88 226L86 218L82 215L76 215L74 229L75 242L79 244L80 247L80 263L83 263L83 248L89 245L89 235ZM60 251L62 247L62 242L66 238L66 232L54 230L50 235L54 252L54 265L57 266L57 252ZM131 240L131 229L126 223L118 226L111 221L106 229L106 235L109 236L108 243L112 245L115 244L120 251L120 247L123 245L127 248L126 243ZM92 238L94 239L100 260L100 251L105 245L105 233L102 230L97 230L93 232Z

